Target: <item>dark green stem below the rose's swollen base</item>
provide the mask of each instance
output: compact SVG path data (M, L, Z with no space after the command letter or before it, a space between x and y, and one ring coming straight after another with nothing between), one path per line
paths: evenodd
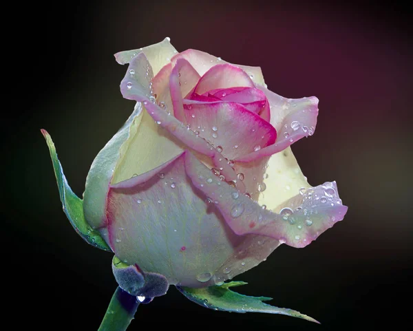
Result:
M116 288L98 331L126 330L134 319L139 303L136 297L129 295L120 287Z

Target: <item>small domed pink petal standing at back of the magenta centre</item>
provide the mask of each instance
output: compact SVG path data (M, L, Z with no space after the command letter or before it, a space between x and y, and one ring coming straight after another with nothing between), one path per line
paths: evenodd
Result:
M204 94L211 89L226 89L229 87L255 87L251 78L235 65L220 64L211 67L198 81L193 92Z

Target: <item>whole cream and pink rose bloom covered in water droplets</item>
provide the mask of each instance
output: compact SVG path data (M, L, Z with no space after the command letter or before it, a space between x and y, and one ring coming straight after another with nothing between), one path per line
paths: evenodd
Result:
M116 60L136 105L94 160L83 210L125 264L173 285L222 284L343 220L335 182L310 186L290 149L314 133L317 98L283 98L260 67L169 39Z

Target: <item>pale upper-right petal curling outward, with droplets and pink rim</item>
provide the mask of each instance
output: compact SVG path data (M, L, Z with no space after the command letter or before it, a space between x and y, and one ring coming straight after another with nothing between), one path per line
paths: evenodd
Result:
M254 153L250 153L237 161L249 162L263 156L271 156L283 151L297 140L314 133L318 115L318 99L315 96L301 99L287 99L261 87L271 107L271 125L277 129L275 144Z

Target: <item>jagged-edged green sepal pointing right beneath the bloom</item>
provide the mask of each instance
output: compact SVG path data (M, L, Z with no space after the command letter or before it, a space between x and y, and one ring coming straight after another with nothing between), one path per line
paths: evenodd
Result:
M268 305L262 301L268 301L272 298L268 297L248 297L248 295L240 295L233 292L229 288L242 286L244 281L231 281L220 286L209 286L207 288L180 288L177 287L182 294L189 300L198 303L201 306L226 312L266 312L268 314L283 314L307 321L319 323L312 317L309 317L296 310L287 308L278 308Z

